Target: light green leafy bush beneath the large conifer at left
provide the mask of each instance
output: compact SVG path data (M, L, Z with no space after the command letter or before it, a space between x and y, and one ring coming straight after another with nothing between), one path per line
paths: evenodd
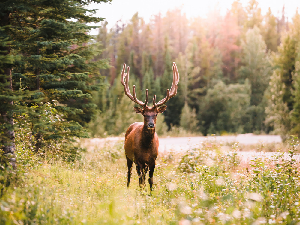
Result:
M46 102L43 106L32 106L43 111L39 114L39 123L33 122L32 117L27 113L19 113L17 116L16 123L19 128L15 132L16 152L24 156L22 160L30 160L31 155L36 153L38 132L41 133L41 149L38 154L46 159L63 158L67 161L74 161L80 157L80 152L84 151L76 146L74 136L88 136L81 133L82 131L77 131L77 126L80 126L77 123L66 122L53 105L55 106L55 103Z

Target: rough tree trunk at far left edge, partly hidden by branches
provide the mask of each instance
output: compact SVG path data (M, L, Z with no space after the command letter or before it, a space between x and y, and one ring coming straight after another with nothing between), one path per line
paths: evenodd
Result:
M9 24L9 12L4 12L0 16L0 26L6 26ZM8 56L10 54L10 45L0 46L0 54L4 56ZM7 84L4 86L4 90L7 92L12 92L12 76L11 76L11 68L9 65L4 64L4 68L2 68L4 73L4 77L0 79L2 84ZM13 125L13 101L2 101L0 105L0 121L3 123L3 135L1 138L2 151L3 156L7 156L10 158L10 163L13 167L16 166L15 156L15 133L14 133L14 125Z

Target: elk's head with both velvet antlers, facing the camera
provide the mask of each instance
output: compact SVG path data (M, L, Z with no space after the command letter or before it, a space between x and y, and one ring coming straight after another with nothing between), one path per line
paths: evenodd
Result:
M175 62L173 62L173 83L172 83L170 91L169 91L169 89L167 89L167 96L164 99L162 99L161 101L159 101L158 103L156 103L155 95L154 95L152 107L147 106L148 100L149 100L148 89L146 90L145 102L142 102L137 99L137 96L135 93L135 85L132 88L133 95L131 95L129 86L128 86L129 66L127 67L126 73L125 73L125 67L126 67L126 64L123 65L123 70L121 73L121 83L124 86L125 95L127 95L132 101L134 101L135 103L137 103L143 107L142 109L139 107L134 107L134 110L136 111L136 113L140 113L144 116L144 126L146 126L147 129L149 129L149 130L154 130L157 115L159 113L163 113L167 108L167 106L162 106L162 105L164 105L170 98L174 97L177 93L177 84L179 82L179 72L178 72L177 66L176 66ZM124 78L125 78L125 82L124 82Z

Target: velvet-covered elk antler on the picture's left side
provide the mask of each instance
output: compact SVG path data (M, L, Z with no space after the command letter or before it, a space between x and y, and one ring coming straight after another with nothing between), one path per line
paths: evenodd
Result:
M148 99L149 99L148 89L146 90L146 100L145 100L145 102L142 102L142 101L137 99L137 95L135 94L135 85L132 87L132 93L133 93L133 96L132 96L131 93L130 93L130 90L129 90L129 85L128 85L128 82L129 82L129 66L127 67L126 73L124 73L125 72L125 67L126 67L126 64L123 65L123 70L122 70L122 73L121 73L121 83L124 86L125 95L127 95L135 103L137 103L140 106L142 106L143 108L145 108L148 104ZM125 79L125 82L124 82L125 77L126 77L126 79Z

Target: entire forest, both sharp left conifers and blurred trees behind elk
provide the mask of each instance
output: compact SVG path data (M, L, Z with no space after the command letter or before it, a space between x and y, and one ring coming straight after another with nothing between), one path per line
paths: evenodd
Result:
M68 149L76 138L124 134L140 121L120 83L124 63L137 97L164 98L176 62L177 95L159 116L159 135L298 135L300 16L262 15L258 1L233 1L225 16L187 19L179 8L135 13L107 29L91 2L1 3L1 146ZM88 32L101 22L96 36ZM152 100L150 100L152 101Z

